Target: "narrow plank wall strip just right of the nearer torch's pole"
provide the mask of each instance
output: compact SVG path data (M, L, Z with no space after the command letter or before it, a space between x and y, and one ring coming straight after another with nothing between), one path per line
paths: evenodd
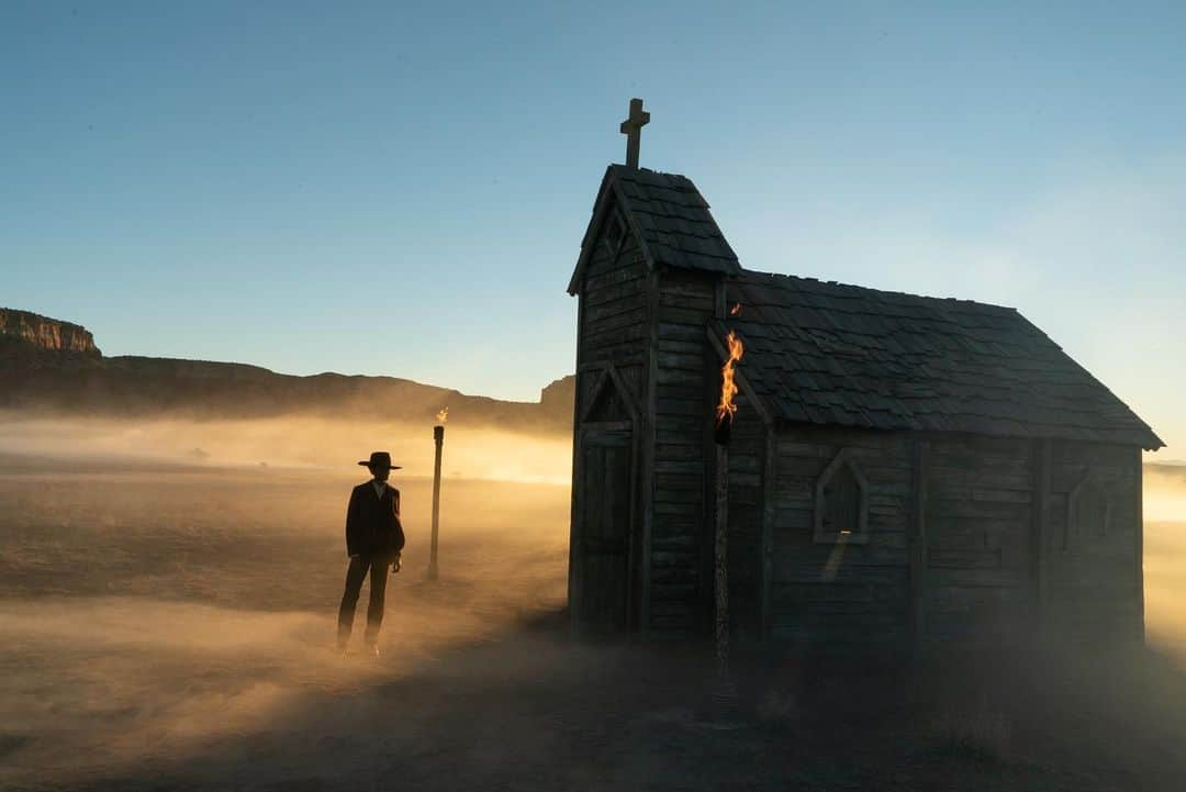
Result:
M739 394L729 442L729 631L739 646L761 643L766 423Z

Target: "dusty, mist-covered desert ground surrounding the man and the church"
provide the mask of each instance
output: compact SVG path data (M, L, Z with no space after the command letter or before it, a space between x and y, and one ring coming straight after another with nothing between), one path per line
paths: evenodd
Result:
M318 434L321 456L349 434ZM30 436L0 432L4 790L1186 788L1173 475L1148 481L1148 651L742 658L722 713L703 651L569 640L562 442L503 443L502 480L490 449L446 465L438 583L431 452L395 473L409 544L383 653L342 658L352 460Z

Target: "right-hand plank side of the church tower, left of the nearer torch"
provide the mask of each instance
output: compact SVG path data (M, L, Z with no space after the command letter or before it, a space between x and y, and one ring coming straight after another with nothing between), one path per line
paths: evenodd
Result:
M715 313L715 279L665 272L652 307L655 382L653 516L649 637L704 633L713 596L706 506L709 391L720 365L706 326ZM706 567L706 563L709 566Z

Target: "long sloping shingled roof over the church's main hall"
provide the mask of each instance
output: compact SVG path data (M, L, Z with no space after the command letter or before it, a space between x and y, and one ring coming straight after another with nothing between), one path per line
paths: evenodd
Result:
M742 375L776 419L1165 445L1013 308L750 270L727 288Z

